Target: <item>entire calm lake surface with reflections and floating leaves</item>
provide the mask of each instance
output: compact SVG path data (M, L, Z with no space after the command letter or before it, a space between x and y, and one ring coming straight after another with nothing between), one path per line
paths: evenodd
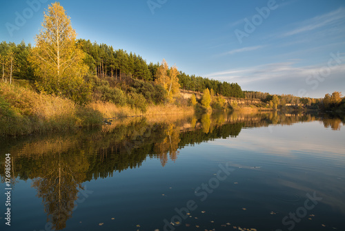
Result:
M2 139L0 230L345 230L344 130L221 114Z

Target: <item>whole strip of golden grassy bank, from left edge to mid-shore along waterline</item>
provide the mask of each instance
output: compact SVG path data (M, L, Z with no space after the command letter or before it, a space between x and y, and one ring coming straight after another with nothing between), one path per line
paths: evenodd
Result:
M72 131L79 127L101 126L105 118L193 112L191 107L175 104L150 105L145 113L129 106L117 107L110 102L81 106L67 98L0 83L0 136Z

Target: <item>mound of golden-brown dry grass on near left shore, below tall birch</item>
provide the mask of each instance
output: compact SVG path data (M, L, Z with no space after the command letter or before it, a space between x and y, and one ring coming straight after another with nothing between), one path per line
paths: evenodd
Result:
M0 135L66 131L101 124L101 114L72 100L0 84Z

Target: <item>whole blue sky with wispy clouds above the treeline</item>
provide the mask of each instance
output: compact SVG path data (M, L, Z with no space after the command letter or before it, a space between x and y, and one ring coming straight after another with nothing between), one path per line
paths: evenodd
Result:
M61 0L77 37L244 91L345 95L344 0ZM34 45L47 0L1 0L0 41Z

